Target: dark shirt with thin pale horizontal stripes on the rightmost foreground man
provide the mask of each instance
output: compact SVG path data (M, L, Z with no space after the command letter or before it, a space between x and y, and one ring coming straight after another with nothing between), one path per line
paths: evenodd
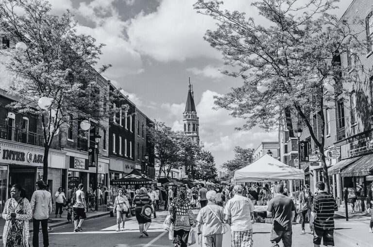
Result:
M336 200L326 192L320 192L313 199L312 211L316 213L314 227L316 230L334 230L334 211L338 211Z

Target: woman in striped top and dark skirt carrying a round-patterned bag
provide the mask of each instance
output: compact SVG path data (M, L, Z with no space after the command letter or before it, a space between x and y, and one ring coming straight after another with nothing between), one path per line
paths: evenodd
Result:
M142 234L149 237L148 235L148 228L150 227L150 224L152 223L151 218L147 218L141 214L142 207L145 205L153 205L152 199L148 195L148 191L145 187L141 187L138 192L136 190L136 196L134 198L133 204L136 205L135 208L135 215L138 223L138 228L140 230L140 238L143 237ZM145 225L145 226L144 226Z

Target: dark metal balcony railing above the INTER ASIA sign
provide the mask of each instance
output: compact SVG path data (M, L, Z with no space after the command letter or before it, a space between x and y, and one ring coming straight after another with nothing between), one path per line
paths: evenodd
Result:
M43 147L44 137L41 134L25 131L6 124L0 124L0 139Z

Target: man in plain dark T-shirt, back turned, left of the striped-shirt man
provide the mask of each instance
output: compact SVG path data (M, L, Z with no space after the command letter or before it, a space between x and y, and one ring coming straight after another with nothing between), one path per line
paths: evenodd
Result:
M295 216L295 205L291 198L284 196L284 186L276 185L274 198L268 203L267 211L271 212L273 225L270 241L272 247L279 247L282 240L284 247L291 247L292 221Z

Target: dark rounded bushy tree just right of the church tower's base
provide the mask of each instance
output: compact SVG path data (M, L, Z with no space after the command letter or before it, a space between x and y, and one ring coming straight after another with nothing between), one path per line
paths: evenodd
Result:
M195 179L208 181L218 176L214 156L210 151L202 150L198 154L198 161L195 166Z

